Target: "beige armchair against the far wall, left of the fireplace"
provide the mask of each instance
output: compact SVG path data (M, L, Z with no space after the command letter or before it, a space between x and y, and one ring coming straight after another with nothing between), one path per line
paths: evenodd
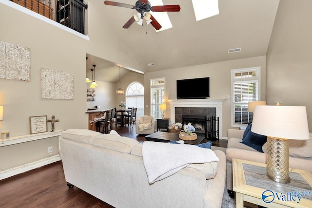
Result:
M151 115L143 115L136 119L137 134L151 134L155 132L155 119Z

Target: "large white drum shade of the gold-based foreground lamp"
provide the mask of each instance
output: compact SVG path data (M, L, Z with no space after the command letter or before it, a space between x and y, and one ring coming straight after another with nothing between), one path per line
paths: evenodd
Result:
M306 107L257 105L251 131L283 139L309 139Z

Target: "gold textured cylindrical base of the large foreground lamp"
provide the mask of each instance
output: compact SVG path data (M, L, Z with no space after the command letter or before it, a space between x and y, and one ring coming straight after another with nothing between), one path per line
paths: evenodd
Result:
M267 175L279 183L290 183L289 140L268 136Z

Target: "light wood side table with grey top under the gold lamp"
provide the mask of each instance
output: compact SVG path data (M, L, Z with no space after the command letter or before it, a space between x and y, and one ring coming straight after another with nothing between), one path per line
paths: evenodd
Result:
M289 184L267 177L267 165L233 159L233 190L236 208L244 201L266 208L311 208L312 174L307 170L290 169Z

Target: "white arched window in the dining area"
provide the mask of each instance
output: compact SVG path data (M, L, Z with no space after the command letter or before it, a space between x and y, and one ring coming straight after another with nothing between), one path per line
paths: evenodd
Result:
M137 108L137 118L144 115L144 87L141 83L133 82L128 86L126 103L129 108Z

